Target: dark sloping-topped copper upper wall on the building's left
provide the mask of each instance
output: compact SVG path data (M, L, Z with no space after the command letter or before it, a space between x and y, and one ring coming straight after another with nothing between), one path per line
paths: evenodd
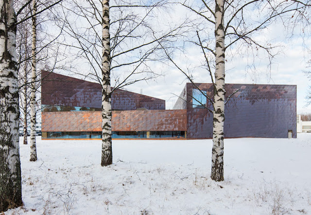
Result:
M102 86L85 80L42 72L42 105L102 107ZM112 109L165 109L165 100L117 89L111 95Z

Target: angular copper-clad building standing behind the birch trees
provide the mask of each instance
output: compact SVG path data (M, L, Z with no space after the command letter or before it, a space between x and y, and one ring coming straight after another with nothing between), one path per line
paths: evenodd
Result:
M42 138L101 138L100 84L43 72ZM112 93L112 138L212 138L213 86L187 83L173 110L162 99ZM295 138L296 86L226 84L225 138Z

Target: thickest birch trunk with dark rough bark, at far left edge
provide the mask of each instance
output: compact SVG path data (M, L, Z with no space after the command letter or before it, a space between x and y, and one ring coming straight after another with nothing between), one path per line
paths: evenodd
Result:
M22 205L16 15L13 0L0 0L0 211Z

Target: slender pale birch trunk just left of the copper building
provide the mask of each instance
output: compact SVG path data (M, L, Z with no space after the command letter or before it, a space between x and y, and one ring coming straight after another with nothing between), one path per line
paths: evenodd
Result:
M33 0L33 32L32 32L32 45L31 45L31 71L32 71L32 83L31 83L31 96L30 96L30 161L37 160L37 149L35 144L35 124L36 124L36 112L35 112L35 84L36 84L36 16L37 4L36 0Z

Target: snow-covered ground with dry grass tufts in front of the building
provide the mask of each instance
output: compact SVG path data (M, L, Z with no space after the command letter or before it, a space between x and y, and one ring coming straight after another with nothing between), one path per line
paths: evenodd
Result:
M5 214L311 214L311 134L225 139L225 181L209 178L212 140L20 141L25 206Z

